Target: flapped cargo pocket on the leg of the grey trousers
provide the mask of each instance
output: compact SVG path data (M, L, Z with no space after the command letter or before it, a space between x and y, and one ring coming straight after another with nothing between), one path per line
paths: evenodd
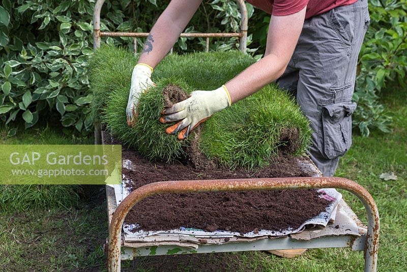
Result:
M342 156L352 145L352 114L355 102L338 102L323 106L322 155L333 159Z

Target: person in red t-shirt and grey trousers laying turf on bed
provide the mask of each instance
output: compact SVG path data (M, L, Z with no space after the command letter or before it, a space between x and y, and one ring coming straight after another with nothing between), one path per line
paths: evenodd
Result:
M308 155L324 176L333 176L352 144L352 95L356 65L370 17L367 0L250 0L271 14L265 56L212 91L163 111L166 129L183 140L201 122L276 81L292 92L313 131ZM175 44L201 0L172 0L153 26L134 67L127 122L134 125L140 93ZM282 254L289 256L289 254Z

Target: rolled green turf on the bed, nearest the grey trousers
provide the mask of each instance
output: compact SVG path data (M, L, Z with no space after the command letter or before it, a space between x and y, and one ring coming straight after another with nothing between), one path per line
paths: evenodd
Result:
M278 155L284 129L300 131L292 153L304 153L311 134L308 120L293 98L269 85L206 121L199 148L231 169L264 167Z

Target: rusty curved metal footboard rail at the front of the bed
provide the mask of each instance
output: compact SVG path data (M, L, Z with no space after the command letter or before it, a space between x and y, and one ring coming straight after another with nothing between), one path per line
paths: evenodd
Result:
M109 227L108 270L120 271L122 225L127 213L144 198L165 193L251 191L265 189L339 188L356 195L368 217L365 243L365 272L375 271L379 248L379 211L371 195L358 183L338 177L252 178L154 182L131 192L115 210Z

